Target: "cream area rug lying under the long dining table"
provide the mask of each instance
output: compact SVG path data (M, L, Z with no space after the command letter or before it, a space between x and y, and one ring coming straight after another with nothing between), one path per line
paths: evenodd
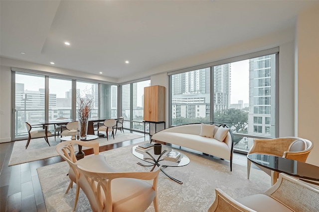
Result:
M99 145L103 146L138 138L142 138L142 136L133 133L117 133L115 135L115 139L109 138L109 141L107 141L106 138L100 137L99 139L94 141L99 141ZM55 145L60 142L59 138L56 138L56 141L54 141L54 137L49 137L49 143L51 146L49 146L47 142L45 142L44 138L31 139L28 148L25 149L26 142L27 140L14 142L9 161L9 166L54 157L58 155L58 153L55 150Z

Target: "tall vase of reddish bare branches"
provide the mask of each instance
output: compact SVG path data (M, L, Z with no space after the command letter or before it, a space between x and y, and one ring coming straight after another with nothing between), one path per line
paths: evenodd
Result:
M92 90L85 89L77 97L77 107L78 107L78 116L79 116L79 130L80 130L80 139L82 141L86 140L88 132L88 121L91 116L91 111L94 107L95 95Z

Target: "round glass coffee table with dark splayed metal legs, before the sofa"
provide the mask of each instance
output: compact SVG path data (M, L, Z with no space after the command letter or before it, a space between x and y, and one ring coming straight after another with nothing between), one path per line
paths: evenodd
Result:
M180 157L178 158L177 162L175 161L169 161L169 160L164 160L163 159L163 156L171 151L171 150L174 150L176 151L175 149L172 149L171 146L166 146L166 145L161 145L161 154L157 155L157 154L154 154L154 148L148 150L148 151L139 151L136 149L138 145L136 146L133 146L132 148L132 153L138 157L139 159L147 162L148 164L144 164L144 163L141 163L141 162L138 162L137 164L141 165L141 166L153 166L151 171L154 170L154 168L156 166L160 166L163 167L163 168L166 168L166 167L179 167L179 166L186 166L189 164L190 160L189 158L183 154L182 152L180 152ZM172 179L173 181L179 183L179 184L182 184L183 182L171 177L170 175L168 175L162 168L160 169L161 172L163 172L167 177L169 177L170 179Z

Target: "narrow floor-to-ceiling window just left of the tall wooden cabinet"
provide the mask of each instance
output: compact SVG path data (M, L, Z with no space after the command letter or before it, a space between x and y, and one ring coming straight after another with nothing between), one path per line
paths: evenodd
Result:
M144 87L150 85L151 80L143 80L121 86L122 116L124 116L125 128L144 131Z

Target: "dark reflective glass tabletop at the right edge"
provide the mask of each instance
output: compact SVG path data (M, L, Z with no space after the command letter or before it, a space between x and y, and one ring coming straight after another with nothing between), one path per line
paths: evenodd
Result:
M267 154L248 154L247 158L257 165L277 172L319 181L319 166Z

